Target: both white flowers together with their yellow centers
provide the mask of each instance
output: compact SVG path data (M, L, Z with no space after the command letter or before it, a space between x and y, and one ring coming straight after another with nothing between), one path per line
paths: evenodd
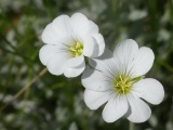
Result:
M82 74L86 106L97 109L107 102L103 110L107 122L122 116L132 122L146 121L151 110L143 100L151 104L163 100L162 84L144 78L154 64L152 50L138 48L134 40L128 39L112 53L105 49L97 25L81 13L56 17L43 30L42 40L46 44L39 53L41 63L53 75ZM90 67L85 67L85 57Z

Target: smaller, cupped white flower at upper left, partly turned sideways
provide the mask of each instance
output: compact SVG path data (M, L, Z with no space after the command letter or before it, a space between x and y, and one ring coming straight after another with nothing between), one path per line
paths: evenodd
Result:
M81 13L61 15L42 32L45 46L39 56L53 75L79 76L85 68L84 56L97 57L105 50L103 36L95 23Z

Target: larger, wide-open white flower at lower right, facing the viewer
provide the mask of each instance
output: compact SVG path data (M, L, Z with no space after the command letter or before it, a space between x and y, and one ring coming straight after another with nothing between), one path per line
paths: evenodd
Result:
M110 55L107 50L105 53ZM158 80L144 78L152 66L154 52L146 47L138 49L135 41L128 39L118 44L111 58L104 58L103 54L99 58L90 60L95 69L88 68L82 75L86 106L97 109L107 102L103 110L107 122L122 116L132 122L146 121L151 110L143 100L159 104L164 96Z

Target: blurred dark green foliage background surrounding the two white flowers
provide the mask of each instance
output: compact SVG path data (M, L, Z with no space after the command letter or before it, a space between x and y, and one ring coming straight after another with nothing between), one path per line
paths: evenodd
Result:
M38 56L42 30L56 16L75 12L99 26L111 50L127 38L154 50L146 77L161 81L165 96L150 105L150 119L135 130L173 130L173 0L0 0L0 130L129 129L125 118L106 123L104 106L95 112L85 106L80 77L38 76L44 68Z

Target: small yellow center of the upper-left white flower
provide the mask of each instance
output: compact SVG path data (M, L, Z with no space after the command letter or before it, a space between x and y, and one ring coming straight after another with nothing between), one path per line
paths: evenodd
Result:
M72 43L72 46L69 48L69 51L74 57L80 56L83 53L83 44L79 41L76 41Z

